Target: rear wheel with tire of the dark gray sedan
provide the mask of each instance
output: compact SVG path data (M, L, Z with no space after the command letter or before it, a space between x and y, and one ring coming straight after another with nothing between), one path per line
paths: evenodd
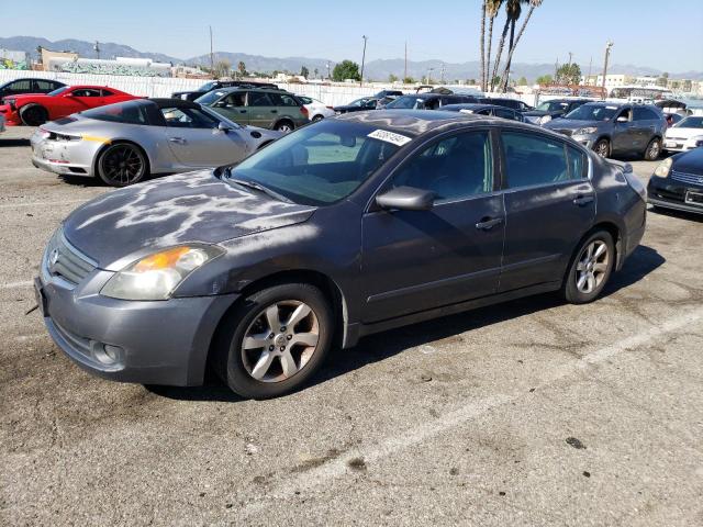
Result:
M604 253L599 256L599 250ZM615 256L613 236L607 231L595 231L585 237L576 250L561 285L565 300L572 304L593 302L613 273Z

